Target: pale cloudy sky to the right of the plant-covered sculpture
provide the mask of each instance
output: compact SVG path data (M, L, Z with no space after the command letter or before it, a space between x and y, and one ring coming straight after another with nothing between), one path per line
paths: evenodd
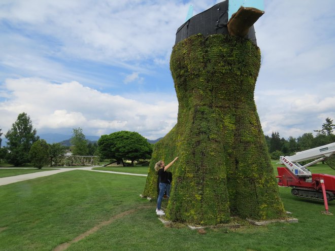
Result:
M335 25L330 0L265 1L256 22L262 64L255 89L266 135L297 137L335 119Z

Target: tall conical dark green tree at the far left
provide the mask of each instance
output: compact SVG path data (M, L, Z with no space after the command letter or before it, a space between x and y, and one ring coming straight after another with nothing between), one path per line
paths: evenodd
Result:
M6 133L8 139L8 163L22 166L29 162L29 151L33 142L39 139L36 129L32 128L30 117L26 113L18 115L12 128Z

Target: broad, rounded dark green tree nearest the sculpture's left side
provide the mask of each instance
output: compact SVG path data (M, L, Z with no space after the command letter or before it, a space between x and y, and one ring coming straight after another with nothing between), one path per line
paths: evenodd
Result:
M130 160L131 166L135 160L150 158L152 153L152 146L146 138L130 131L102 135L98 140L98 149L103 158Z

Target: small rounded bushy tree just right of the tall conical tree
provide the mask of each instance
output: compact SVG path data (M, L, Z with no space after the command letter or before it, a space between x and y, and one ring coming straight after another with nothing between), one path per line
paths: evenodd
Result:
M44 139L33 142L29 151L30 163L33 167L41 169L50 159L49 145Z

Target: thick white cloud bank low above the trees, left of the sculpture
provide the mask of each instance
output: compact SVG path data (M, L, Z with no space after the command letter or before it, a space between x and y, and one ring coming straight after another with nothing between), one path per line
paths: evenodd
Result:
M0 117L7 118L1 125L3 131L22 112L30 116L37 130L81 127L87 135L129 130L156 139L177 123L176 99L147 103L102 93L78 82L53 84L34 78L9 79L4 89L9 98L0 102Z

